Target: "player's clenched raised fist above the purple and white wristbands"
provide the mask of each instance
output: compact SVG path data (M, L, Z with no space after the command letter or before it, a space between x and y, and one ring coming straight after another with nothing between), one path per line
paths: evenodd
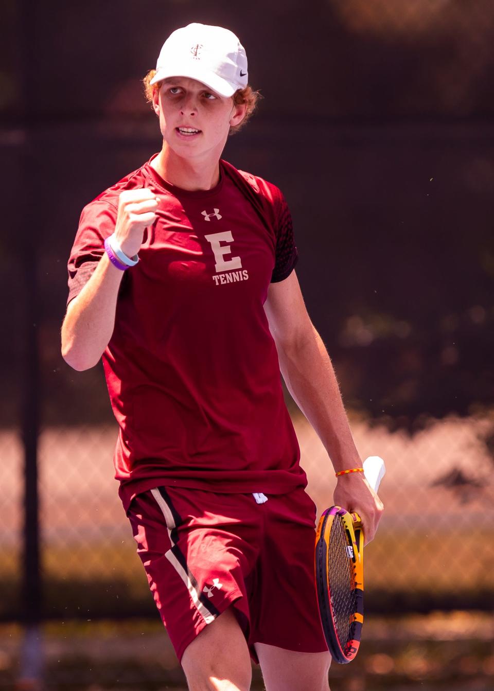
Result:
M158 204L158 197L146 187L128 189L120 194L115 238L128 257L139 252L144 230L156 219Z

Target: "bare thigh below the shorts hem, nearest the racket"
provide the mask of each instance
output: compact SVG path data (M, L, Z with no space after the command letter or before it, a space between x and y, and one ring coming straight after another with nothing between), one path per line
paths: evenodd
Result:
M256 643L266 691L329 691L329 652L294 652Z

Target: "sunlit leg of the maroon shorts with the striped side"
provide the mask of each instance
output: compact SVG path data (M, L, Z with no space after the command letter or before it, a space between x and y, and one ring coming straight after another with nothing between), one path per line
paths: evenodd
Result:
M179 661L230 605L249 637L245 574L258 540L255 521L243 523L242 536L235 532L242 502L242 495L157 487L129 509L137 553Z

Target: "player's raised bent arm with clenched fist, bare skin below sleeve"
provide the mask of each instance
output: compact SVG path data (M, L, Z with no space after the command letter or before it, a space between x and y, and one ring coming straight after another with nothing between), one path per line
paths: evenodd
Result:
M149 189L127 190L120 195L115 236L127 256L139 251L144 230L155 220L157 207L158 200ZM75 370L95 366L111 339L122 275L104 254L82 291L68 305L61 327L61 354Z

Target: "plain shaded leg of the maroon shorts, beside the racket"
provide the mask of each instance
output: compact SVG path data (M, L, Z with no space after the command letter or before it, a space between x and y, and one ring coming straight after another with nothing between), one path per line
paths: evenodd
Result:
M316 507L298 489L269 496L265 535L251 603L252 643L325 653L314 576Z

